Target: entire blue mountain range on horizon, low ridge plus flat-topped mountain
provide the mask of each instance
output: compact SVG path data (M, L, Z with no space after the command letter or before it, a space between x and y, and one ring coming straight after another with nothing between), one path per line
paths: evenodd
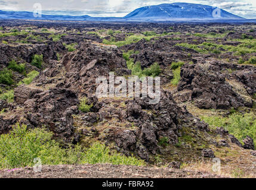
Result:
M172 3L135 9L125 17L90 17L90 15L46 15L35 18L33 12L0 11L0 19L67 20L67 21L245 21L245 18L201 4ZM218 10L218 11L216 11ZM220 12L220 14L219 14Z

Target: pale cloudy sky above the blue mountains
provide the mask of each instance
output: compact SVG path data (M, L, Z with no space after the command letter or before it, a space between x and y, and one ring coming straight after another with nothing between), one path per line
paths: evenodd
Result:
M136 8L172 2L190 2L220 7L244 18L256 18L256 0L0 0L3 11L33 11L42 5L42 14L123 17Z

